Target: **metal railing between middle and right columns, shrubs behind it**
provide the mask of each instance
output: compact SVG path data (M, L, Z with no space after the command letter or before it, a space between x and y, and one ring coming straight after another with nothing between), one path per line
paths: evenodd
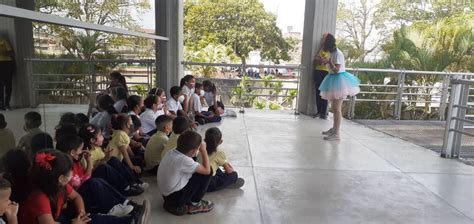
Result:
M300 65L254 65L182 62L185 74L197 75L198 81L216 84L221 99L244 112L254 104L261 109L287 108L298 114ZM211 68L211 69L210 69ZM217 69L220 68L220 69ZM254 71L255 69L255 71ZM284 71L284 73L283 73ZM271 76L271 79L268 77ZM208 77L206 77L208 76ZM217 77L211 78L209 76ZM224 77L224 78L223 78ZM286 105L286 106L282 106Z

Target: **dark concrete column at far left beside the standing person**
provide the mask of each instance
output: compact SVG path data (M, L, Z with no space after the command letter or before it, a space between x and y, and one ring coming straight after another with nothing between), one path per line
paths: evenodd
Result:
M34 10L33 0L0 0L0 4ZM31 80L29 66L24 58L31 58L34 52L33 26L31 21L0 17L0 32L10 40L16 57L16 72L13 77L11 106L16 108L36 106L30 101Z

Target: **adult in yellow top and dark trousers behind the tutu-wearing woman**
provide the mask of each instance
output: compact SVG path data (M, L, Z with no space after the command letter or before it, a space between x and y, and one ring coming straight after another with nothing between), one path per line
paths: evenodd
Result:
M324 40L328 33L324 33L323 37L321 38L321 46L319 47L318 51L314 55L314 70L313 70L313 78L314 78L314 87L316 90L316 114L314 117L319 117L321 119L327 119L328 115L328 101L321 98L321 91L319 90L319 86L323 82L324 78L328 75L329 69L324 63L329 59L329 52L324 49Z

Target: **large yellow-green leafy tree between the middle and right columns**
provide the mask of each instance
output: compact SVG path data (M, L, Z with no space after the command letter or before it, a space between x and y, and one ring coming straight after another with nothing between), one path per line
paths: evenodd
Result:
M210 43L232 49L242 63L253 50L263 59L289 60L292 41L282 36L276 16L257 0L195 0L184 5L184 44L199 51Z

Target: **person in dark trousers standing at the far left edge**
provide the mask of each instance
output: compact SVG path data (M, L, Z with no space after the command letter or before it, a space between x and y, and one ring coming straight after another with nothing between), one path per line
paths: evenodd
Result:
M12 110L13 73L15 72L15 53L8 38L0 36L0 111Z

